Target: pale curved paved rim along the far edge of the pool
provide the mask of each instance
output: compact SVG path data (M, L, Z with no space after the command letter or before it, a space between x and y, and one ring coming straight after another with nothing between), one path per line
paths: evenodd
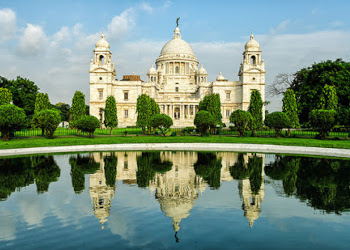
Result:
M280 146L266 144L232 144L232 143L138 143L138 144L100 144L59 147L18 148L0 150L0 156L47 154L64 152L94 152L94 151L226 151L320 155L334 157L349 157L350 149Z

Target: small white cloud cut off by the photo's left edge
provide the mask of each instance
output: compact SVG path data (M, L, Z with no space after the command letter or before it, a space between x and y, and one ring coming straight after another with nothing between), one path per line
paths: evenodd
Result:
M0 39L10 39L16 32L16 13L11 9L0 9Z

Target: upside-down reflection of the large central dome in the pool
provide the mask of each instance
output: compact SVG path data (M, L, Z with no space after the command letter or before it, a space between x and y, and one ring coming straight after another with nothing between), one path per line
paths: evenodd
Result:
M161 159L173 163L166 173L157 173L151 181L150 190L155 191L155 197L165 216L173 221L173 229L180 229L182 219L190 215L198 193L202 193L207 184L197 176L193 164L197 161L195 152L163 152Z

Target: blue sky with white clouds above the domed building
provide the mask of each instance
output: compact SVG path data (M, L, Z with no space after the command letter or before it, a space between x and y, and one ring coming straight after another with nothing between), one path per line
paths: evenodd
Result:
M71 104L76 90L89 102L89 65L101 32L117 78L146 73L172 39L182 39L213 81L220 72L238 80L251 32L266 67L266 89L279 73L315 62L350 61L349 1L46 1L0 0L0 76L34 81L52 103ZM266 95L269 111L281 97Z

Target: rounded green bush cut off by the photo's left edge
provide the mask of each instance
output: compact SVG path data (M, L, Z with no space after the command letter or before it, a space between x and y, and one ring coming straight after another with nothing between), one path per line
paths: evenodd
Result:
M26 126L26 114L23 109L13 105L0 105L0 131L5 141L10 139L11 130Z

